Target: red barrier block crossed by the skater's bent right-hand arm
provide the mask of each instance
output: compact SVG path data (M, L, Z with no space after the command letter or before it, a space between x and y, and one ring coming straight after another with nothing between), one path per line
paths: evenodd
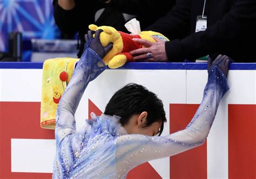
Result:
M170 104L170 133L184 129L199 105ZM207 178L207 146L170 157L170 178Z

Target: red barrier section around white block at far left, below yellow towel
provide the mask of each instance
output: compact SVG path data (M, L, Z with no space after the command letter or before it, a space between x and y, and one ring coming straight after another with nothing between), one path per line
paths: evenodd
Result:
M55 138L54 130L40 127L40 102L0 102L0 109L0 178L51 178L52 174L11 172L11 139Z

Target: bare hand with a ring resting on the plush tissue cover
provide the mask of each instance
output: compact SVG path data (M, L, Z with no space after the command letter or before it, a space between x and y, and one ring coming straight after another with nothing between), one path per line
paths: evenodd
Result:
M153 37L154 38L154 37ZM145 46L145 48L132 50L130 53L133 56L133 60L136 61L168 61L165 42L154 38L156 43L152 43L145 39L133 38L134 41Z

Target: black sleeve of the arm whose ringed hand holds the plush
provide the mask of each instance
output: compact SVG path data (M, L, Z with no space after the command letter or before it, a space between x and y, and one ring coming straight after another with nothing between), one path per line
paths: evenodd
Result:
M255 39L256 1L238 0L226 15L205 31L165 44L170 61L196 59L216 51L230 52ZM245 41L247 39L247 41ZM242 48L242 47L241 47Z

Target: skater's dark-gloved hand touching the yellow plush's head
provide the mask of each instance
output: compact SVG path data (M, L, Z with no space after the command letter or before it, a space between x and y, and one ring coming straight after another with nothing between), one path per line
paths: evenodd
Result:
M105 55L112 49L113 43L109 43L107 46L102 46L102 43L100 43L99 35L103 32L102 29L99 29L97 31L91 31L89 30L88 33L85 35L85 43L89 44L89 47L94 50L101 58L104 58ZM95 33L95 37L93 38L93 34Z

